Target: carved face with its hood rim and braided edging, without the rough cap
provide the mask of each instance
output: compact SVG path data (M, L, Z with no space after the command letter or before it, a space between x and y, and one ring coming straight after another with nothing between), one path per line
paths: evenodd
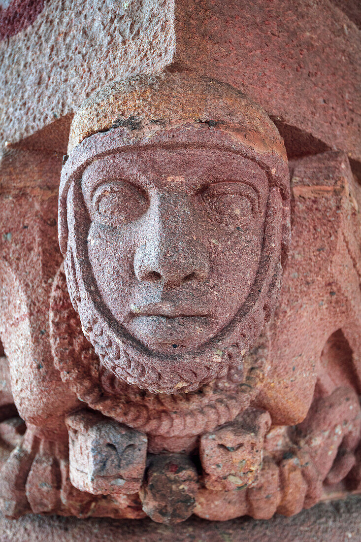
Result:
M102 366L153 393L197 390L231 366L242 378L280 288L287 165L204 124L124 135L92 135L62 172L83 332Z

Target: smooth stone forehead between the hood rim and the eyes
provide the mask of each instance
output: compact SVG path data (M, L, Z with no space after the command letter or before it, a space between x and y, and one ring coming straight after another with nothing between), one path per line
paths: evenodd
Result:
M166 182L177 177L179 182L201 183L237 180L268 189L265 171L256 163L231 151L192 147L151 147L125 150L96 159L83 172L82 182L104 182L109 179L147 179Z

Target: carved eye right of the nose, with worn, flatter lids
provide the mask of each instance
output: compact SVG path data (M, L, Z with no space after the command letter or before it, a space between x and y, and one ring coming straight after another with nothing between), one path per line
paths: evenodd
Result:
M244 183L214 183L201 197L207 214L217 222L247 222L259 213L257 192Z

